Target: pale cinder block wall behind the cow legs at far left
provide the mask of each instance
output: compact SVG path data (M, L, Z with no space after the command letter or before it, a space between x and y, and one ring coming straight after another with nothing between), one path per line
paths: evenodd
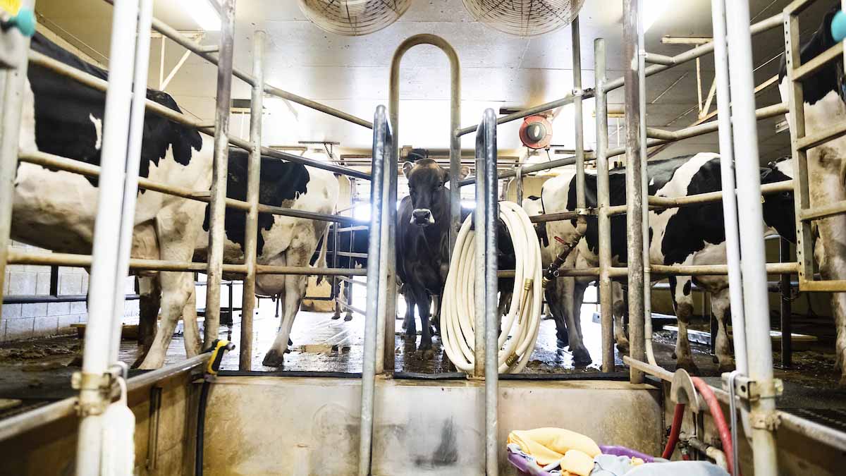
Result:
M44 252L13 241L11 247L27 252ZM3 296L50 294L50 267L12 264L6 267ZM135 293L135 278L126 279L126 293ZM81 295L88 292L88 273L83 268L58 268L58 294ZM34 304L4 304L0 320L0 341L29 339L48 335L74 333L70 324L84 323L88 318L85 302L50 302ZM137 320L138 301L124 305L124 322Z

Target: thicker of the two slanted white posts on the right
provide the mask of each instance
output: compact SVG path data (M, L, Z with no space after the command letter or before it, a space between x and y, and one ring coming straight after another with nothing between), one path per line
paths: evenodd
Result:
M761 389L772 389L772 342L770 340L769 300L766 290L764 225L761 220L761 174L758 130L755 119L755 81L752 75L752 41L749 30L749 3L726 2L728 26L728 72L731 80L732 125L735 167L744 182L737 191L740 223L740 262L743 277L744 311L749 377ZM790 64L788 64L788 69ZM801 108L801 103L799 108ZM793 112L793 110L791 110ZM772 392L774 393L774 392ZM775 396L751 402L752 452L755 474L778 473L776 440L766 422L776 409Z

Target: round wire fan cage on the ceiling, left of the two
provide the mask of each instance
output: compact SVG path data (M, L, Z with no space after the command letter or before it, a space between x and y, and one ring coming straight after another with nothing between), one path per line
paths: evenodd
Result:
M305 17L336 35L362 36L393 24L411 0L299 0Z

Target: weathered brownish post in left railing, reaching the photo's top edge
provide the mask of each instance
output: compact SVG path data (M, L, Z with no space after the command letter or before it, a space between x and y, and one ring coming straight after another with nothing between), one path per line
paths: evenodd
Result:
M232 93L232 53L235 28L235 0L221 3L220 52L217 60L217 108L215 109L214 167L209 203L209 253L206 270L205 346L217 339L220 329L220 285L222 280L223 220L226 212L226 180L229 160L229 98Z

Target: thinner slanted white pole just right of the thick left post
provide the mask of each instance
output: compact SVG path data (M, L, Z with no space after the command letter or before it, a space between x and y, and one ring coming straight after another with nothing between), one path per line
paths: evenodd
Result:
M118 362L120 336L124 330L123 315L126 300L126 280L129 274L129 253L132 252L132 233L135 230L135 202L138 197L138 170L140 168L141 141L144 137L144 114L147 99L147 71L150 66L150 25L153 17L152 0L140 0L138 15L138 40L135 44L135 72L133 76L132 105L129 111L129 144L124 160L123 207L118 236L117 280L113 283L113 325L109 363Z

